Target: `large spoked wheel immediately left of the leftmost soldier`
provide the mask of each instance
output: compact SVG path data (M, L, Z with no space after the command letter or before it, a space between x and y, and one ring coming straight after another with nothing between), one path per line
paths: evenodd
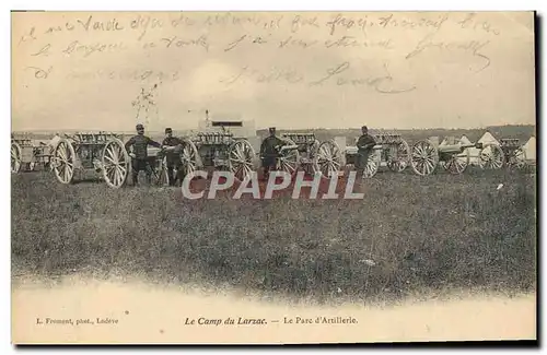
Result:
M131 159L120 140L112 139L106 143L101 164L103 178L110 188L119 189L127 182Z

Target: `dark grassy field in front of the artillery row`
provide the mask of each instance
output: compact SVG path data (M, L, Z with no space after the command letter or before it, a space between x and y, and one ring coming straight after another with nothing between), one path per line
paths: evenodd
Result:
M499 184L503 188L497 189ZM363 200L183 199L178 189L12 176L12 272L400 299L536 287L535 175L379 173ZM371 262L373 261L373 262Z

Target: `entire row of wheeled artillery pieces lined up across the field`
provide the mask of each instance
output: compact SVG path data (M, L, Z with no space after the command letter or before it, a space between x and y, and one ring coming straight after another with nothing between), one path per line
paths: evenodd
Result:
M330 177L353 165L358 154L357 146L345 146L336 140L319 142L314 133L283 133L280 138L286 144L278 151L276 167L289 174L304 170ZM381 167L397 173L410 168L420 176L439 169L462 174L469 166L472 150L477 152L478 165L484 169L521 168L526 164L524 150L514 139L502 140L501 145L435 144L431 140L409 145L398 134L376 134L374 138L376 145L369 155L363 178L373 177ZM200 132L182 141L182 146L174 149L181 159L179 177L213 167L230 170L243 180L260 166L260 156L249 141L231 132ZM160 150L149 156L154 185L168 185L165 153L165 150ZM27 138L12 138L12 173L33 170L39 164L53 170L61 184L73 182L78 170L93 169L112 188L123 187L131 169L129 152L125 149L123 137L116 133L65 134L57 137L55 144L38 145Z

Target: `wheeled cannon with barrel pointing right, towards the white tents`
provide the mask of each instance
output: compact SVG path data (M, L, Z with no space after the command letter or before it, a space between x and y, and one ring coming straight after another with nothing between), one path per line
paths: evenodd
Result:
M421 176L433 174L440 165L453 175L463 174L470 163L470 150L478 150L479 156L494 151L496 145L482 143L435 144L432 140L420 140L412 145L410 166Z

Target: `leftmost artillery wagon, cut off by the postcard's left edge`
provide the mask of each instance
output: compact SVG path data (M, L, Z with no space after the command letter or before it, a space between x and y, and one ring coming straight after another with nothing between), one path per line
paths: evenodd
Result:
M47 167L51 158L49 150L50 146L44 142L39 142L38 145L34 144L27 134L18 137L12 134L11 173L20 173L23 167L27 171L33 171L38 164Z

